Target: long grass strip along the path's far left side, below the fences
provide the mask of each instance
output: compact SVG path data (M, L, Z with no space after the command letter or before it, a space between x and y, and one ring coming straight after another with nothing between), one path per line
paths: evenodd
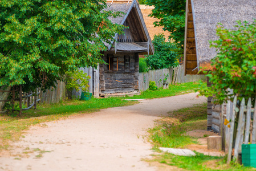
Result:
M22 131L28 129L30 125L63 119L69 115L78 113L96 112L100 109L110 107L121 107L133 105L135 101L125 101L123 99L151 99L154 97L166 97L180 95L194 91L198 87L197 83L184 83L172 85L169 89L159 89L157 91L145 91L135 97L115 97L108 99L95 99L89 101L68 100L58 104L39 104L36 110L24 111L22 117L17 117L17 113L10 115L0 115L0 149L8 148L8 140L18 140Z

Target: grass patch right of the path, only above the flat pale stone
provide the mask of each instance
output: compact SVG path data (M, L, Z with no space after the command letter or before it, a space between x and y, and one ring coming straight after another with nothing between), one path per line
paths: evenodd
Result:
M197 143L196 139L184 135L190 129L204 129L207 119L207 104L196 105L169 113L170 117L160 120L160 125L149 129L155 148L183 148Z

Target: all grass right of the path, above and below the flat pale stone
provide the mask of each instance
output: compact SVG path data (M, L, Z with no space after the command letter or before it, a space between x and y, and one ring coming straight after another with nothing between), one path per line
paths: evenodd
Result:
M169 117L159 120L160 125L149 129L149 139L154 149L160 152L159 147L184 148L197 143L196 139L187 136L187 131L205 129L207 123L207 104L195 105L170 112ZM154 155L153 160L165 165L177 166L186 170L255 170L241 165L226 165L225 157L206 156L196 152L196 156L176 156L169 153Z

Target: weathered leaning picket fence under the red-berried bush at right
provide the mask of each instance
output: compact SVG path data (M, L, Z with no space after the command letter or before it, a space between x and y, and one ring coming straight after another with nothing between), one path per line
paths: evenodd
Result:
M237 101L237 96L234 96L233 102L227 101L226 104L222 104L220 113L220 134L224 137L228 164L232 156L233 160L238 162L238 154L241 153L242 144L256 143L256 103L254 108L251 108L251 98L249 98L247 105L245 98L243 98L238 107Z

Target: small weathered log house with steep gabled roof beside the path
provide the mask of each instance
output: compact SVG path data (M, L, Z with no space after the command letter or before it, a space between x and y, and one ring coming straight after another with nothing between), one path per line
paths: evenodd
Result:
M107 64L94 68L80 68L92 79L89 80L90 92L95 97L108 97L139 92L139 55L154 54L154 47L145 25L143 14L136 0L107 0L108 10L121 11L121 17L109 18L112 23L128 26L124 34L115 35L115 41L104 51L103 58ZM79 97L81 91L72 92Z

